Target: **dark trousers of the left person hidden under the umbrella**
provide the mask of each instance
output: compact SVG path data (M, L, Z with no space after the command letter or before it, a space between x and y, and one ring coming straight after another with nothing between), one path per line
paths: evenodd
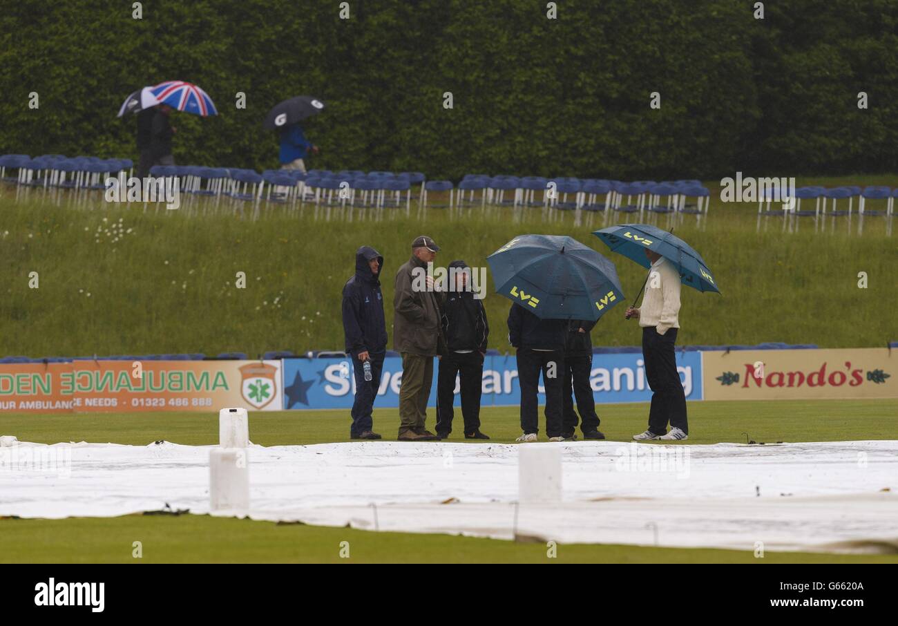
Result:
M550 377L550 364L554 376ZM546 435L561 436L561 394L564 389L564 351L542 352L531 348L517 350L517 379L521 384L521 429L524 433L539 433L540 372L546 390Z

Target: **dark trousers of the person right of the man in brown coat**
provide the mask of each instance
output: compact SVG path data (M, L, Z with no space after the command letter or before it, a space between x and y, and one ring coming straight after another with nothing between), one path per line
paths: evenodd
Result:
M470 435L480 429L480 391L483 385L483 355L477 350L466 354L450 352L440 358L436 375L436 432L452 432L455 401L455 376L460 378L464 432Z

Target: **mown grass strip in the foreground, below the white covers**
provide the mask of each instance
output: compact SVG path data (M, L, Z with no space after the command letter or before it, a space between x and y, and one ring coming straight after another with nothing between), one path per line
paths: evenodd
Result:
M132 555L141 542L143 558ZM349 558L340 558L349 542ZM543 543L373 533L211 516L0 519L0 563L898 563L898 555Z

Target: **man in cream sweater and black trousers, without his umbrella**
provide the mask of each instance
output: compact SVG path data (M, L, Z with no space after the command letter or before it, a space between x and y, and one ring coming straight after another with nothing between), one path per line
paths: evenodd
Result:
M674 264L656 252L646 250L652 265L648 269L646 295L638 309L629 307L626 319L637 317L642 327L642 357L652 390L648 429L633 436L637 441L682 440L689 436L686 395L676 371L674 343L680 322L680 274ZM667 432L667 423L671 430Z

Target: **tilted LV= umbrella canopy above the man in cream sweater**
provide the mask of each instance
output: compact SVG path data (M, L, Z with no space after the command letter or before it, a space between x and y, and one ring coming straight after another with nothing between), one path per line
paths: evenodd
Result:
M593 234L612 251L635 260L646 269L651 266L651 262L645 251L655 251L674 264L674 268L680 272L683 285L699 291L720 293L705 260L688 243L672 233L647 224L624 224L603 228Z

